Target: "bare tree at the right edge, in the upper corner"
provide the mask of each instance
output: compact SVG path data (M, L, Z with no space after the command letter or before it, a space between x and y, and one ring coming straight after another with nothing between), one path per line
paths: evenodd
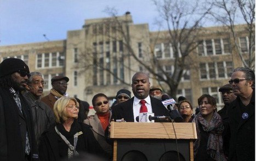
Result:
M255 1L254 0L214 0L209 1L214 9L211 15L217 22L227 26L235 43L235 48L243 62L243 65L254 70L255 67ZM235 24L242 22L246 24L245 32L248 35L248 57L243 53L239 43L239 37L235 32ZM246 59L248 59L246 61Z

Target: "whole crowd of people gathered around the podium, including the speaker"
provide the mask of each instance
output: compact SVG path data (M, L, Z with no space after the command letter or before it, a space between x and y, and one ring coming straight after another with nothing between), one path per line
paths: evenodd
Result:
M109 98L98 93L92 99L95 114L87 116L89 103L68 96L68 82L68 77L53 77L50 93L41 98L45 85L41 73L30 72L20 59L1 62L0 160L78 156L112 160L111 121L137 122L136 117L144 112L174 119L173 110L180 115L180 122L196 125L195 160L255 160L255 75L247 67L236 68L229 84L219 88L224 102L220 111L215 98L203 94L196 114L183 96L170 111L161 100L163 89L151 86L147 74L136 72L132 77L134 97L128 89L121 89L110 107Z

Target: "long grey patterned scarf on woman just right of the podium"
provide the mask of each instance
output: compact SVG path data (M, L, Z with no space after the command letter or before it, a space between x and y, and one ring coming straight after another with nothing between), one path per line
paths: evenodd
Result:
M196 115L192 122L196 123L197 140L194 142L194 156L196 156L198 148L200 146L200 128L199 123L202 125L204 131L209 133L207 141L207 153L210 154L214 160L226 160L223 153L223 140L222 133L224 126L221 121L221 117L217 112L213 113L213 117L210 122L203 118L201 112Z

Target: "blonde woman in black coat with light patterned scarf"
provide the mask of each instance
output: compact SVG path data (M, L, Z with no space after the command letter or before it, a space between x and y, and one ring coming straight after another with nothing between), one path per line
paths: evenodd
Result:
M95 140L91 126L79 123L75 98L62 96L54 104L56 123L44 131L39 143L40 160L62 160L79 153L105 153Z

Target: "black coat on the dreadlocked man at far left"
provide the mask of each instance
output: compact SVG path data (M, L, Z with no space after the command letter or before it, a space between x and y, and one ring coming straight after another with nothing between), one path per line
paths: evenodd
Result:
M31 108L25 98L19 96L22 113L13 94L0 88L0 160L25 160L26 131L29 134L31 155L29 160L38 159Z

